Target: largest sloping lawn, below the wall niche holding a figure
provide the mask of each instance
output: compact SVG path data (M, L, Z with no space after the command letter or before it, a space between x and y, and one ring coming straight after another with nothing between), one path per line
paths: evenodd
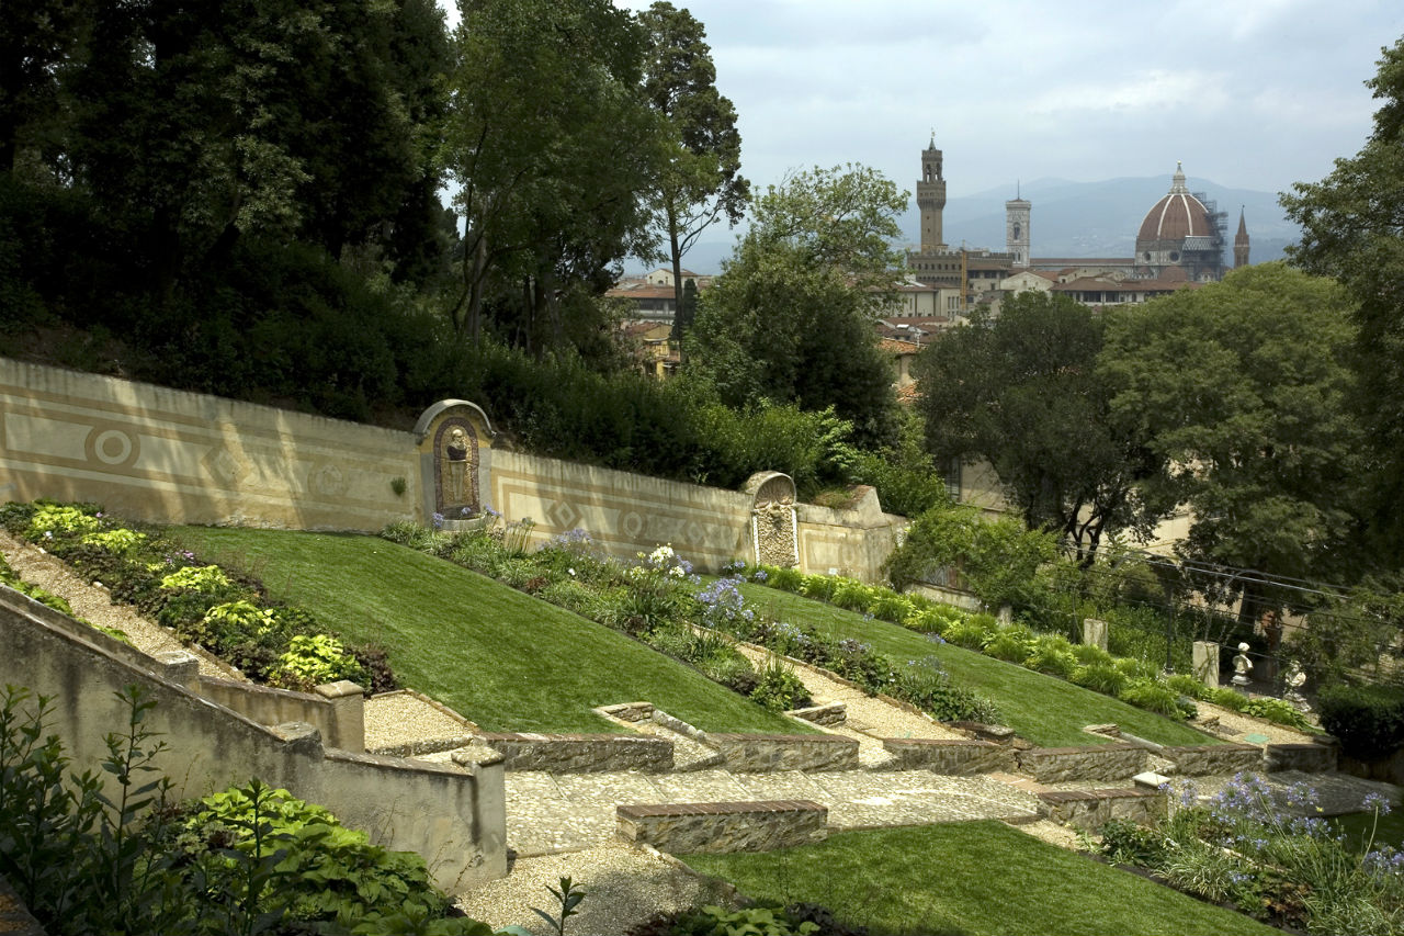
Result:
M646 700L705 731L800 734L790 720L607 627L444 559L365 535L173 528L487 731L611 732L594 706Z

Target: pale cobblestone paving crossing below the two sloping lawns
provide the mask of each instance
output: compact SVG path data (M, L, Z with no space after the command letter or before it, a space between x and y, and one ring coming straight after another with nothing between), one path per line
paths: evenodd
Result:
M835 829L921 825L963 819L1026 822L1038 801L987 777L924 770L768 774L695 773L507 774L507 845L519 856L595 847L615 835L615 807L635 802L813 800L828 807Z

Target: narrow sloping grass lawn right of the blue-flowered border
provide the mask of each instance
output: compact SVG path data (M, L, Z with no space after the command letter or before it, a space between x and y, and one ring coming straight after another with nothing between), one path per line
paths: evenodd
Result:
M1106 722L1116 722L1130 734L1161 745L1217 743L1216 738L1185 724L1127 706L1111 696L960 646L936 644L900 624L869 620L862 614L764 585L743 585L741 593L768 616L872 644L875 651L899 665L908 659L936 656L952 679L993 698L1011 728L1043 748L1105 743L1084 732L1082 727Z

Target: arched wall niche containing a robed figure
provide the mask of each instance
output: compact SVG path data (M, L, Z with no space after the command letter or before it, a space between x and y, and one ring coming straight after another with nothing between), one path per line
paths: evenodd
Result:
M487 503L491 440L497 433L477 403L441 399L414 423L425 520L444 517L444 528L483 512Z

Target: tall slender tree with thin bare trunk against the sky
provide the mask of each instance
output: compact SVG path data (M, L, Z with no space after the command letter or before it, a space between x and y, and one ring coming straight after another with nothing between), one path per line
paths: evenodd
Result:
M656 198L664 247L673 261L673 336L692 323L684 309L682 256L716 222L736 225L750 198L740 174L741 135L736 108L716 90L706 30L687 10L660 0L639 14L649 34L643 91L675 135Z

